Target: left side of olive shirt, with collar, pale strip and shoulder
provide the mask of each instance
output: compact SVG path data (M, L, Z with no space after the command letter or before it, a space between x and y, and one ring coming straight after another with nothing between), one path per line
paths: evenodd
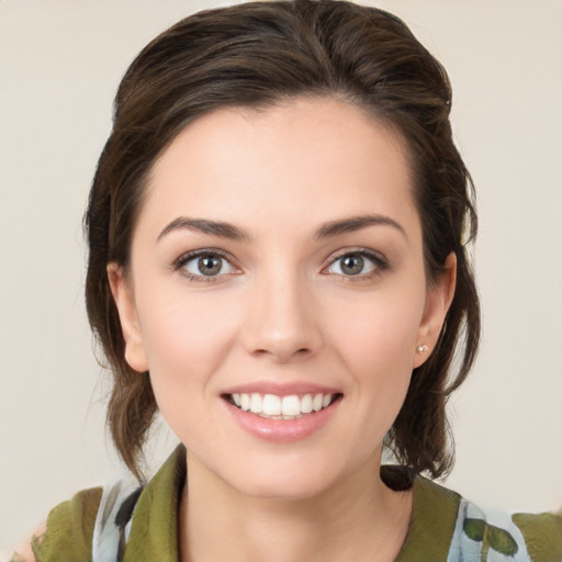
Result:
M175 521L184 477L186 451L178 447L145 487L123 477L81 491L49 513L11 562L116 560L125 546L128 560L177 560Z

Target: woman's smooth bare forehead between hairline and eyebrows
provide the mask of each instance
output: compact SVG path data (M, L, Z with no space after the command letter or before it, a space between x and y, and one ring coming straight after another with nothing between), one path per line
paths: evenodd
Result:
M314 98L220 109L188 125L155 164L139 222L289 226L297 216L312 228L366 213L417 222L402 137L357 106Z

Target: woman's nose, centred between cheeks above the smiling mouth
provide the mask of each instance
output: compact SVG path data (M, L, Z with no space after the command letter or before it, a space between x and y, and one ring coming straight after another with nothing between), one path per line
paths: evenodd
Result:
M276 276L271 276L276 277ZM322 346L318 306L297 273L256 281L241 331L246 350L277 363L302 360Z

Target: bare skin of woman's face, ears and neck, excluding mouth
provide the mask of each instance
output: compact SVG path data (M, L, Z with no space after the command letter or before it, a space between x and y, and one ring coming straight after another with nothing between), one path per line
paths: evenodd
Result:
M456 269L451 255L428 283L413 189L400 135L325 98L214 111L156 162L131 268L108 271L126 360L150 371L160 412L189 451L181 560L398 553L412 493L378 477L382 442L437 340ZM318 236L366 215L379 221ZM173 227L179 217L247 236ZM218 274L204 277L196 259L178 266L202 249L226 256ZM373 258L347 274L341 257L358 249ZM311 436L269 442L240 428L223 396L263 381L327 385L342 397Z

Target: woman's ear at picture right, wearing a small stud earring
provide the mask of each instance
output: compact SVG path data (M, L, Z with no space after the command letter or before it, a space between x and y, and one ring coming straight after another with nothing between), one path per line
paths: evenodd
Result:
M424 364L431 355L437 344L441 327L454 296L454 288L457 285L457 255L451 251L445 260L445 269L439 277L431 283L427 291L426 305L424 316L419 324L417 334L416 348L422 349L414 355L414 369Z

